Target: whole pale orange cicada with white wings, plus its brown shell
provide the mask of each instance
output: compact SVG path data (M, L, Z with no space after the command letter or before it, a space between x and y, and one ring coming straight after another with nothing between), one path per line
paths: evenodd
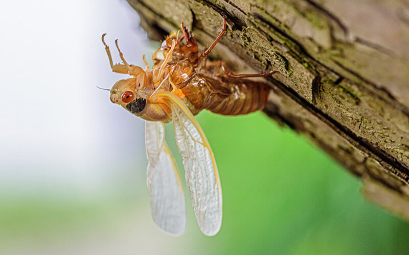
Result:
M179 37L179 32L183 34ZM249 77L274 73L233 74L221 61L208 55L226 33L226 20L219 36L199 53L198 44L186 27L172 33L153 54L153 67L145 57L145 69L128 64L115 41L123 64L113 64L109 47L102 42L113 72L129 74L110 89L110 100L146 120L145 145L148 157L147 185L154 222L164 232L179 236L185 232L186 207L174 158L165 141L164 124L173 121L176 143L183 157L193 210L200 230L216 235L221 226L222 195L215 157L195 119L203 109L223 115L260 110L270 88ZM186 43L184 42L186 41Z

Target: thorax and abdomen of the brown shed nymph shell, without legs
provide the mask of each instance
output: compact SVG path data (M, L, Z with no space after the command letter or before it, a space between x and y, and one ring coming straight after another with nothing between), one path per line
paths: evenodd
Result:
M262 82L232 79L221 71L220 63L195 68L189 59L173 60L168 65L175 86L196 110L207 109L222 115L238 115L263 109L270 88Z

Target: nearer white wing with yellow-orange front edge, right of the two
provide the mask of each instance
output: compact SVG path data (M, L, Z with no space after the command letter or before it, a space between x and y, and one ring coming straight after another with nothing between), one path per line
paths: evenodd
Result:
M171 102L172 120L177 146L183 157L186 184L197 223L203 234L219 232L222 218L222 197L219 174L212 149L186 105L170 92L162 92Z

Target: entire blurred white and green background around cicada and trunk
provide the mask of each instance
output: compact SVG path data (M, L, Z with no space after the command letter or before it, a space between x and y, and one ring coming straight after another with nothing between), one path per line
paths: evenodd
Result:
M0 21L1 254L408 252L406 222L261 112L197 116L219 167L222 227L201 234L187 198L186 234L165 235L149 211L144 121L96 88L124 78L109 68L103 33L141 66L159 46L134 10L124 0L7 1ZM166 135L180 166L171 124Z

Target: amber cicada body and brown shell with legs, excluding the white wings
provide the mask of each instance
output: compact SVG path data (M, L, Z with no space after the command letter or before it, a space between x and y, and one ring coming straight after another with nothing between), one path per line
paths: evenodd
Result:
M214 42L201 53L194 37L182 23L183 36L171 34L152 56L154 66L143 70L126 63L113 65L109 47L105 45L112 71L128 73L132 78L118 81L111 89L110 99L132 114L150 121L171 121L171 111L160 98L161 91L170 91L184 101L196 115L206 109L223 115L251 113L264 108L270 88L257 81L244 78L265 77L274 73L232 74L220 61L208 61L207 56L226 32L223 30ZM183 43L186 40L186 44ZM163 58L162 58L162 56ZM159 55L159 57L157 57ZM124 95L129 95L124 99Z

